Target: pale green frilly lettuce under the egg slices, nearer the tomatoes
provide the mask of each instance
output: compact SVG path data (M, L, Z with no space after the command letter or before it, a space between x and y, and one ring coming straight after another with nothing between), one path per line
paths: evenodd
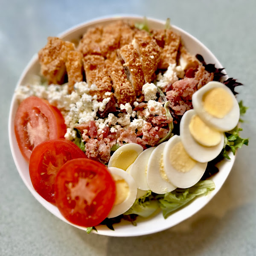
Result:
M148 193L141 198L135 200L134 204L124 215L128 214L137 214L143 218L147 218L151 214L153 214L159 205L152 195L152 192L148 190Z

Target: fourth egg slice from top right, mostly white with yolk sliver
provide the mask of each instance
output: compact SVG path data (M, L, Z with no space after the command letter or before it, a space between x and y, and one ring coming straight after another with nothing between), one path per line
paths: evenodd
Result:
M157 194L165 194L176 189L176 186L169 181L163 166L163 149L166 143L158 145L148 160L148 186L152 192Z

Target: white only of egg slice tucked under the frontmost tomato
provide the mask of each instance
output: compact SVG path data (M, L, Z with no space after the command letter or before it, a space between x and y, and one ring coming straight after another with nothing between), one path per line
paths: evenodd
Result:
M108 214L108 218L114 218L128 211L128 209L130 209L134 204L137 195L137 186L135 180L133 177L131 177L131 175L128 174L128 172L125 172L124 170L116 167L109 167L108 170L112 175L119 175L122 177L129 186L129 193L125 200L121 204L114 205Z

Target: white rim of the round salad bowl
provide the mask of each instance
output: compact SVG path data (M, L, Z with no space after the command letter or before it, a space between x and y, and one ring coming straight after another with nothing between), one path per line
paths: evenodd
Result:
M97 23L100 22L106 22L106 21L115 21L115 20L123 20L123 19L130 19L130 20L143 20L143 16L140 15L107 15L107 16L102 16L102 17L98 17L95 19L91 19L88 21L85 21L83 23L79 23L78 25L72 26L69 29L66 29L64 32L59 33L57 36L59 38L64 38L65 36L69 35L70 33L73 33L76 30L79 30L81 28L83 28L84 26L92 26L92 25L96 25ZM159 23L159 24L165 24L164 20L160 20L160 19L155 19L155 18L151 18L151 17L147 17L147 20L153 23ZM196 42L196 44L198 44L200 46L200 48L203 48L204 50L207 51L207 54L210 56L210 58L214 58L215 61L215 66L222 68L221 63L218 61L218 59L215 57L215 55L213 55L213 53L203 44L201 43L201 41L199 41L197 38L195 38L193 35L189 34L188 32L184 31L183 29L180 29L179 27L172 25L172 27L175 30L180 31L181 33L183 33L184 35L188 36L189 38L192 38L193 41ZM26 64L26 67L24 68L23 72L20 75L20 78L17 81L15 90L17 89L17 87L21 84L21 82L23 81L23 79L26 77L27 73L29 72L29 70L31 69L31 67L38 61L38 54L35 53L32 58L30 59L30 61L28 62L28 64ZM222 72L226 73L225 70L223 70ZM44 198L41 198L41 196L35 191L34 188L31 188L31 186L29 185L29 183L27 182L25 176L23 175L22 169L20 168L20 163L19 163L19 159L15 156L15 143L17 143L16 137L13 134L13 130L14 130L14 124L13 124L13 120L14 120L14 108L15 108L15 104L17 104L16 102L16 98L15 98L15 92L13 93L12 96L12 101L11 101L11 105L10 105L10 111L9 111L9 121L8 121L8 130L9 130L9 144L10 144L10 148L11 148L11 152L12 152L12 157L14 159L15 162L15 166L17 168L17 171L21 177L21 179L23 180L23 182L25 183L26 187L29 189L29 191L32 193L32 195L35 197L35 199L37 201L39 201L39 203L41 203L44 208L46 208L49 212L51 212L53 215L55 215L57 218L60 218L62 221L71 224L74 227L77 227L81 230L86 230L86 227L81 227L75 224L70 223L69 221L67 221L62 215L61 216L57 216L55 214L55 212L53 212L51 209L48 209L45 206L45 200ZM193 209L192 211L189 212L188 215L185 216L185 218L181 218L179 221L175 221L175 223L168 225L168 221L167 221L167 225L160 227L160 228L151 228L149 230L147 230L146 232L143 230L139 230L136 232L136 234L132 234L132 233L128 233L128 234L119 234L116 231L113 232L112 230L109 229L105 229L105 230L98 230L98 232L96 232L95 230L92 231L92 233L96 233L96 234L100 234L100 235L105 235L105 236L115 236L115 237L128 237L128 236L143 236L143 235L148 235L148 234L152 234L152 233L157 233L163 230L166 230L170 227L173 227L177 224L179 224L182 221L185 221L186 219L190 218L192 215L194 215L196 212L198 212L199 210L201 210L207 203L209 203L209 201L217 194L217 192L221 189L221 187L223 186L225 180L227 179L228 175L230 174L230 171L232 169L233 163L235 161L235 156L233 154L229 154L231 160L229 160L229 162L227 163L228 165L228 170L226 170L226 172L223 175L223 179L221 179L220 185L218 187L216 187L213 191L211 191L207 196L205 196L207 198L207 200L204 200L204 202L202 204L200 204L199 207ZM197 199L196 199L197 200ZM195 201L196 201L195 200ZM192 204L192 203L191 203ZM185 209L188 206L185 206L183 209ZM182 209L181 209L182 210ZM171 217L171 216L170 216ZM154 218L154 217L151 217ZM168 220L168 218L167 218ZM145 220L147 221L147 219ZM100 232L99 232L100 231Z

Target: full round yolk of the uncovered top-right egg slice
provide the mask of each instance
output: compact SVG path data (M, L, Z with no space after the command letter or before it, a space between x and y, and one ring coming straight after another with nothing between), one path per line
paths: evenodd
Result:
M214 117L223 118L233 108L233 98L224 88L217 87L204 93L204 109Z

